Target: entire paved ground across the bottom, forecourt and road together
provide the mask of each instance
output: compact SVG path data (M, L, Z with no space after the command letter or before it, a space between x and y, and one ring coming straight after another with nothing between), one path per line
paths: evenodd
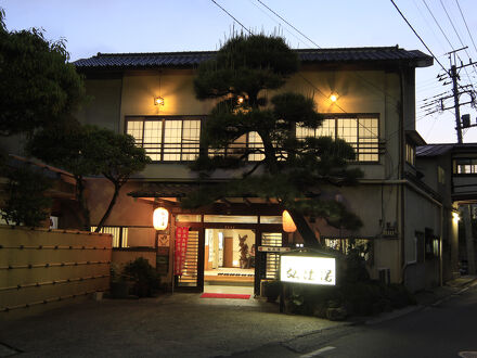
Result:
M477 351L477 285L439 290L447 298L437 305L354 323L281 315L276 304L260 299L90 299L2 322L0 357L439 358Z

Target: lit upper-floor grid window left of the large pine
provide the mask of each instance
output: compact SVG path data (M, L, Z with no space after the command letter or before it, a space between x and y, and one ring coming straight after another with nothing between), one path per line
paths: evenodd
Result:
M194 161L198 156L201 119L195 117L127 118L126 132L154 162Z

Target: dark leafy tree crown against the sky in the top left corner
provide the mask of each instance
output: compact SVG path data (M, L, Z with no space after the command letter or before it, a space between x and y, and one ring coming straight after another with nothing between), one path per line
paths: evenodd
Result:
M9 31L0 9L0 136L30 133L76 111L85 87L68 56L65 40L49 41L38 28Z

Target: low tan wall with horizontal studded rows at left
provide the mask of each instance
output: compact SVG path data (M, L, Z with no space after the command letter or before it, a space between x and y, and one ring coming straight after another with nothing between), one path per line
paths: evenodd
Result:
M111 253L109 234L0 226L0 320L108 290Z

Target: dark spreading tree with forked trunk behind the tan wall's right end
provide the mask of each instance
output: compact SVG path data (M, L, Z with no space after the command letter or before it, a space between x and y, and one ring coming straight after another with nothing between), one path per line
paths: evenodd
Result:
M56 126L37 132L29 141L28 152L74 175L76 199L80 206L85 230L91 227L85 195L85 178L103 175L113 183L114 194L98 225L96 232L109 216L121 187L133 172L142 170L150 163L145 151L134 145L131 136L117 135L94 126L81 126L74 120L68 126Z

